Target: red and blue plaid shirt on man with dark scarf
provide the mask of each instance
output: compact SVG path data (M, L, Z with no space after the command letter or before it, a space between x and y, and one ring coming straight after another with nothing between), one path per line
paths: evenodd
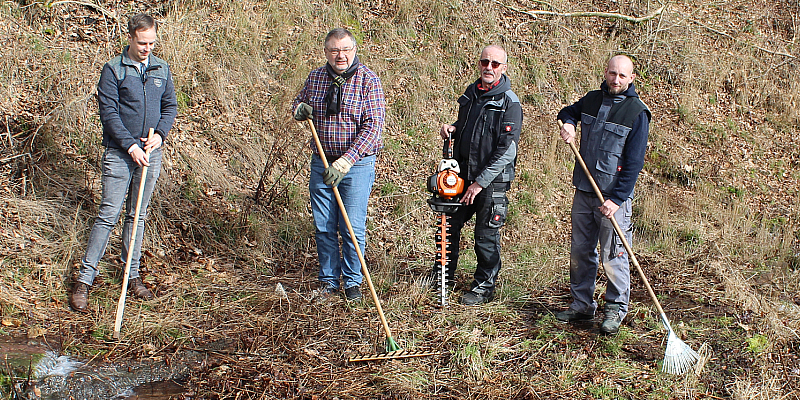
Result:
M325 67L311 71L292 103L292 110L300 102L310 105L325 155L331 159L346 157L355 164L383 147L381 131L386 119L386 99L381 80L364 64L359 64L356 73L342 85L341 112L325 116L325 92L331 82ZM313 142L311 148L317 152Z

